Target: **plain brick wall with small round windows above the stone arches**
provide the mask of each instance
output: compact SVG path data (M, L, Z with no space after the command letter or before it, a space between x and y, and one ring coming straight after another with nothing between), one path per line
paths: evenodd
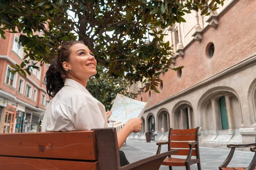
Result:
M201 42L193 42L186 49L184 57L176 59L175 66L183 65L182 77L178 78L175 71L169 70L160 76L163 79L163 90L160 94L151 91L149 106L162 101L192 85L195 85L241 60L256 53L256 1L239 0L223 16L219 18L217 28L209 28L203 34ZM209 42L215 45L212 58L207 57L206 47ZM145 91L145 89L144 89ZM148 93L141 93L147 101Z

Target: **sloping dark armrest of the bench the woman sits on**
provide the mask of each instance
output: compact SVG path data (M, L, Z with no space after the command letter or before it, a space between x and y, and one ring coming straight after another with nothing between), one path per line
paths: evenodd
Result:
M146 159L136 161L134 163L125 165L120 170L159 170L162 162L167 156L178 153L178 150L171 150L168 152L160 153L158 155L150 156Z

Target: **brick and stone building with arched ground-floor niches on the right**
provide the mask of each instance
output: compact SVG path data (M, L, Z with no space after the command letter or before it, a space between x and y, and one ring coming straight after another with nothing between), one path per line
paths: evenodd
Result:
M201 146L255 142L256 1L226 0L209 16L192 11L164 30L175 63L184 66L160 75L160 94L130 87L147 102L143 130L130 138L168 140L169 128L200 127Z

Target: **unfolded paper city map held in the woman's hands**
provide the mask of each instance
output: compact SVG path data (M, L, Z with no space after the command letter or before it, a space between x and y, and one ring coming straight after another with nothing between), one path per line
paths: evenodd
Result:
M141 118L147 105L148 102L140 102L121 94L117 94L111 108L112 115L108 120L126 123L131 118Z

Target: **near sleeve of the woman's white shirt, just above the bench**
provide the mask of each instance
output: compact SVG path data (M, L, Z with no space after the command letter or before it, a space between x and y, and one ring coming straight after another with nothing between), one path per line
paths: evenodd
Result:
M99 108L97 101L87 102L76 109L72 121L76 130L103 128L105 126L104 114L102 113L102 109Z

